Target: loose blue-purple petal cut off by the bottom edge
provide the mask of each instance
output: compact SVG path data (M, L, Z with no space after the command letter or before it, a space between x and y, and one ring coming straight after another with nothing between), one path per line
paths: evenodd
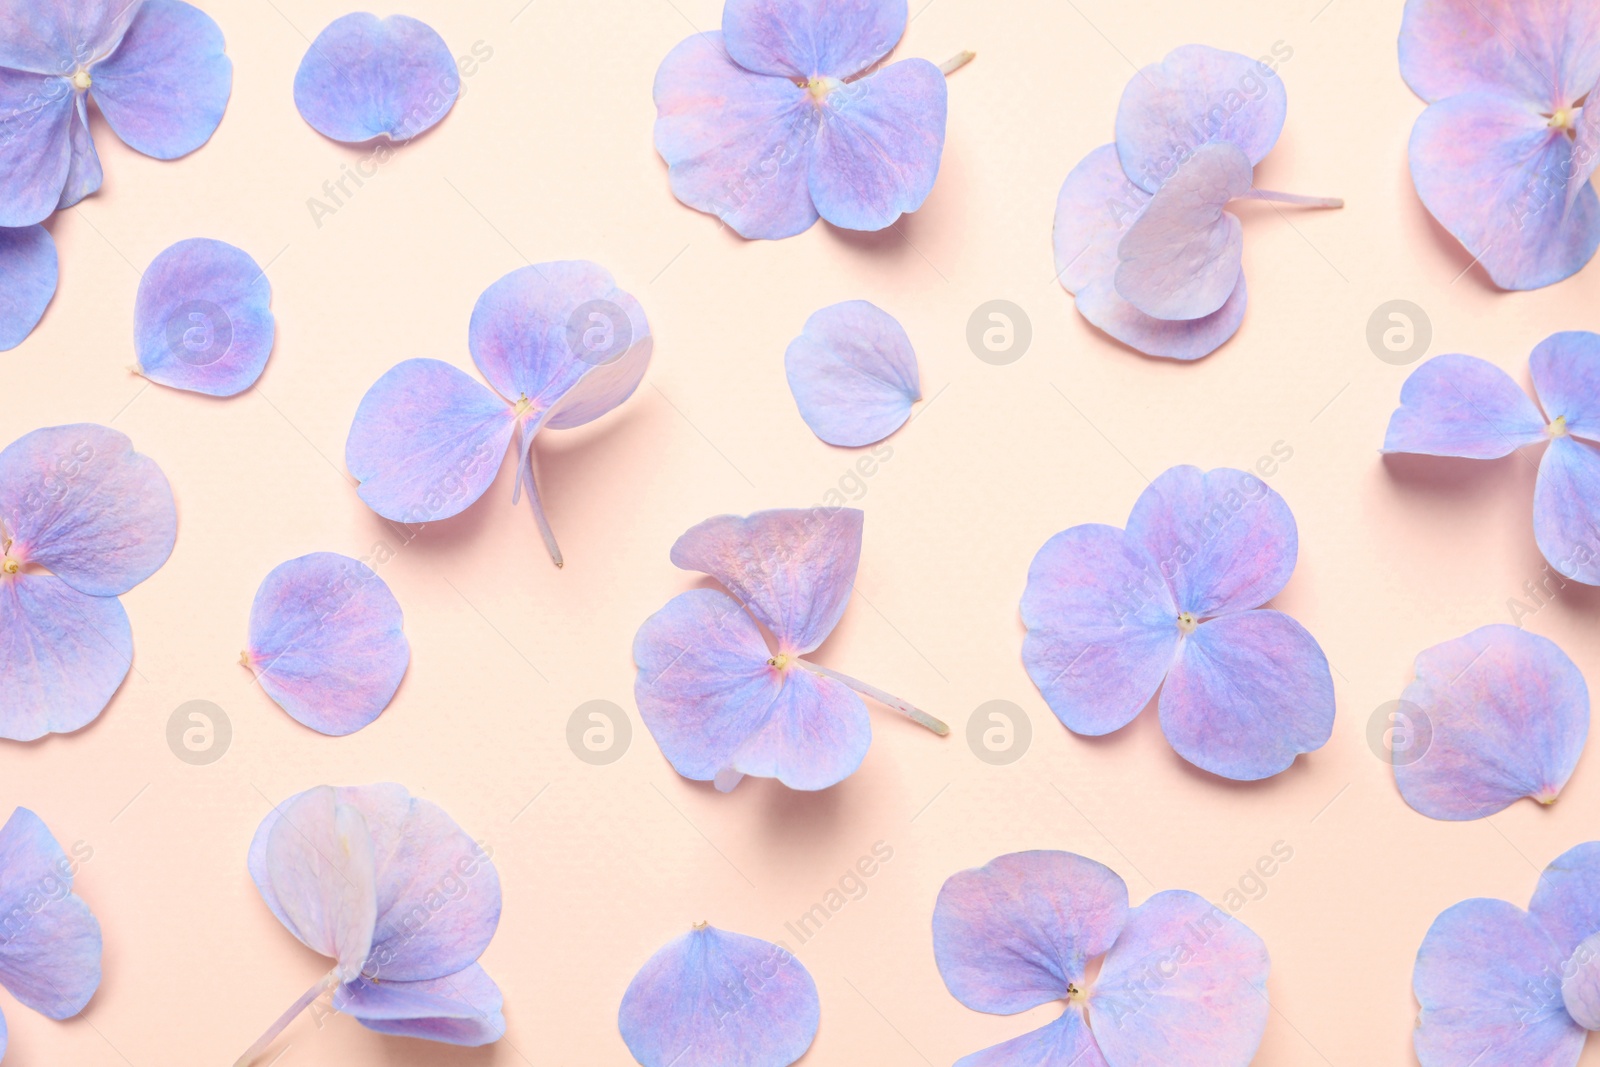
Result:
M787 949L701 925L638 969L616 1024L643 1067L789 1067L821 1013L816 982Z

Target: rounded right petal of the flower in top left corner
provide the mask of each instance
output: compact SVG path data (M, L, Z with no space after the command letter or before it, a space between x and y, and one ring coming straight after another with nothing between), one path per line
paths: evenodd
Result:
M122 45L90 75L112 133L158 160L210 141L234 91L222 30L182 0L144 0Z

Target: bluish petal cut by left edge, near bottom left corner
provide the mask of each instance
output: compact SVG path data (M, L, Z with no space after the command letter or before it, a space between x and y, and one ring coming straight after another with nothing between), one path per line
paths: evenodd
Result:
M99 921L72 893L77 862L27 808L0 829L0 985L51 1019L83 1011L101 979Z

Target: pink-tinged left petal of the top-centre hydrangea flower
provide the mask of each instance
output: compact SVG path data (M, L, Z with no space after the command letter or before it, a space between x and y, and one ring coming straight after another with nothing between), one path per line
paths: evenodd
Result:
M696 34L656 70L656 152L672 195L739 237L778 240L816 222L806 184L821 110L786 77L750 74L722 34Z

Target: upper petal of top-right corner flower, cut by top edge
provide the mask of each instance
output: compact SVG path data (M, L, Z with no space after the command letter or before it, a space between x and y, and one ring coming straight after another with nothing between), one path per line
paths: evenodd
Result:
M1565 107L1600 77L1600 10L1571 0L1406 0L1400 75L1430 104L1490 91Z

